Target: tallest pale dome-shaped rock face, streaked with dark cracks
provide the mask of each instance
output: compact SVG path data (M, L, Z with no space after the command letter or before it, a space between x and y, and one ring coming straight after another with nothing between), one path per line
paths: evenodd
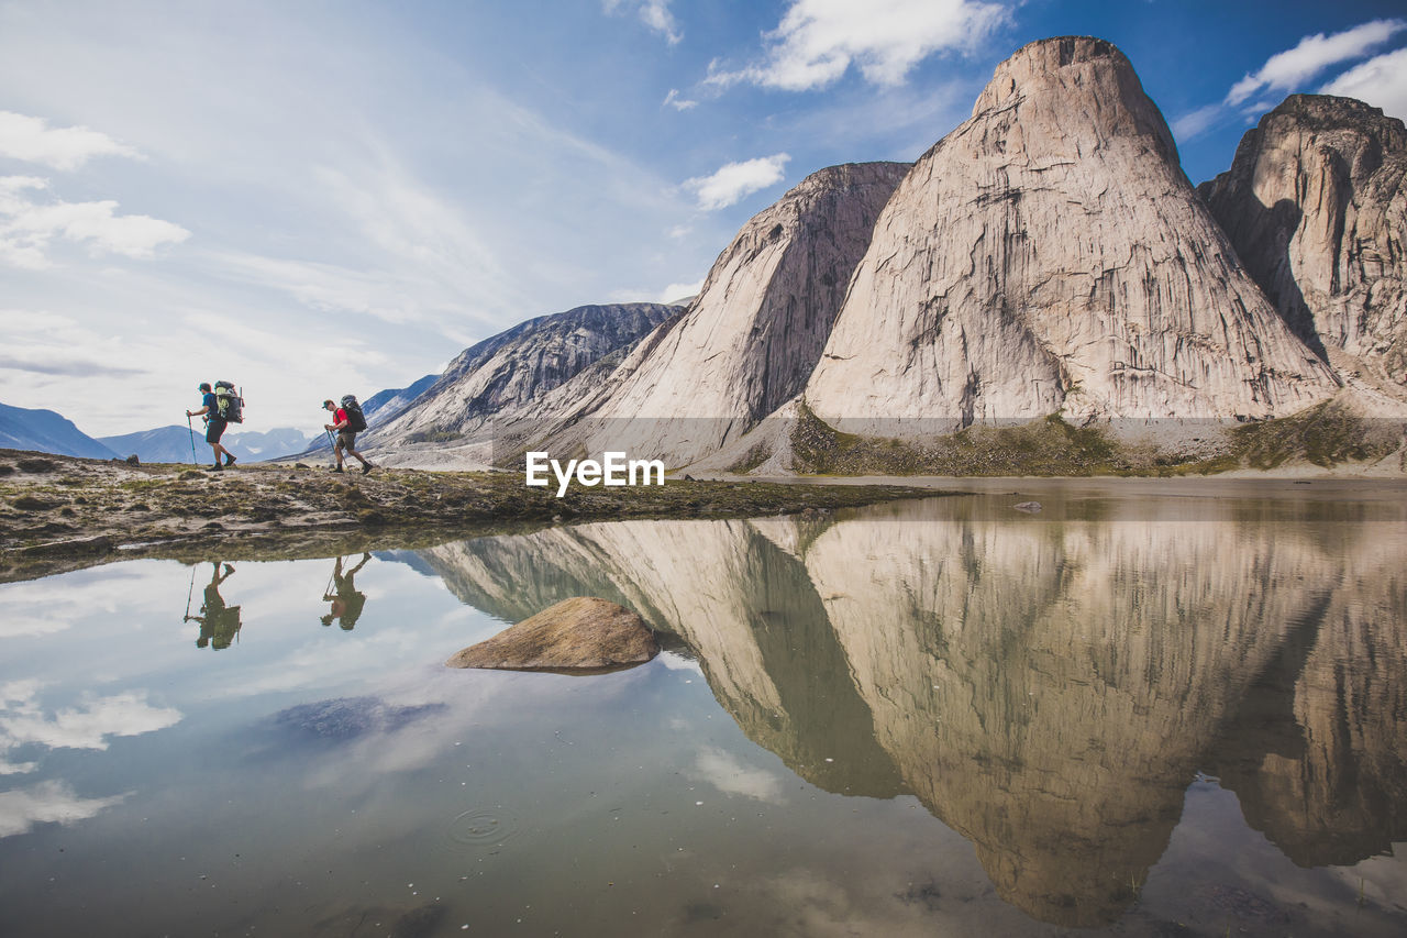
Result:
M1241 269L1128 61L1076 37L998 66L900 183L805 400L847 430L922 435L1058 408L1279 415L1335 390Z

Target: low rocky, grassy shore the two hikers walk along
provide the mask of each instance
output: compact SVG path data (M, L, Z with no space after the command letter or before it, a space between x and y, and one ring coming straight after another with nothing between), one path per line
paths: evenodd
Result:
M788 514L933 496L902 486L670 480L573 487L561 499L516 473L128 465L0 449L0 582L113 559L317 556L412 548L488 530L604 518Z

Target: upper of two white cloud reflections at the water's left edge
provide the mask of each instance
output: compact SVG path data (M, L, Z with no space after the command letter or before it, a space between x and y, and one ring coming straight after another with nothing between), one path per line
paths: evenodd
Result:
M182 714L146 703L146 692L110 697L84 697L76 707L45 715L38 701L39 683L14 682L0 686L0 755L39 744L51 749L107 749L108 737L138 737L180 723ZM32 770L10 766L11 770Z

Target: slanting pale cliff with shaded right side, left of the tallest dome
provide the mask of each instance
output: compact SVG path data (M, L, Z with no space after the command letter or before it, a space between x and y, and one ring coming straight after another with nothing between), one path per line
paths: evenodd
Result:
M795 396L820 358L875 218L908 169L822 169L753 217L719 255L688 314L635 349L580 408L584 421L567 438L682 465Z

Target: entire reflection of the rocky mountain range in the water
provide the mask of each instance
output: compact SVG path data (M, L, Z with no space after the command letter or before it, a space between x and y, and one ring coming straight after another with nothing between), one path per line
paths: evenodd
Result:
M1407 832L1401 508L1365 528L1332 503L1173 504L989 520L946 499L425 556L505 620L574 594L632 606L799 775L915 793L1003 897L1089 925L1131 901L1197 770L1300 863Z

